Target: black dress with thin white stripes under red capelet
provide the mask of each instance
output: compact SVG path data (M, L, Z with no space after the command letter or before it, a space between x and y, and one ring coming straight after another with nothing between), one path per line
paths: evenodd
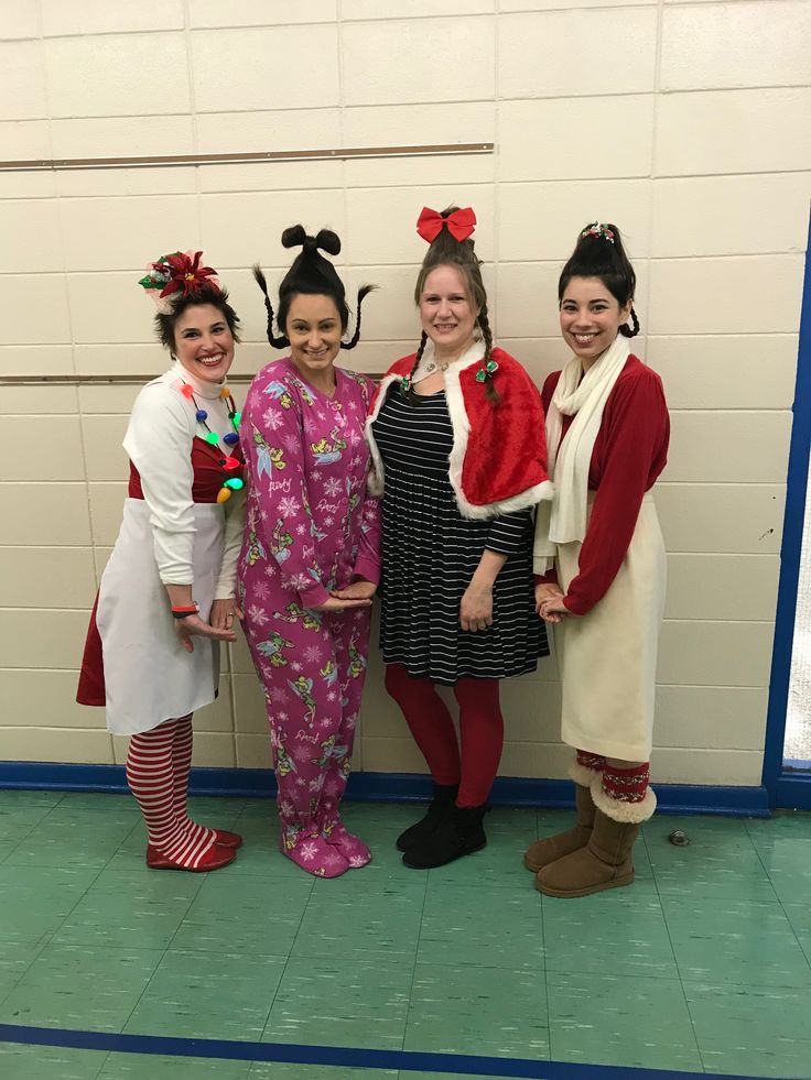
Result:
M444 684L534 670L549 646L534 610L532 511L462 516L447 476L453 428L444 391L392 390L372 432L386 473L383 661ZM459 603L485 548L507 561L494 587L493 625L471 633L459 625Z

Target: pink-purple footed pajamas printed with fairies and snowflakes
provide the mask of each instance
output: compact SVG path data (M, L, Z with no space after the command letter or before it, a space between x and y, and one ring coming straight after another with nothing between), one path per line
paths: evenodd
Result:
M334 877L369 861L339 806L369 653L370 608L314 611L360 577L379 580L378 502L366 493L370 385L335 369L332 399L288 359L262 368L240 425L250 474L239 557L245 634L270 721L281 850Z

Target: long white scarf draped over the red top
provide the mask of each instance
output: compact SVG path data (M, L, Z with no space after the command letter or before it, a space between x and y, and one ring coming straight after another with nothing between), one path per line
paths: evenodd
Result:
M583 541L588 517L588 468L605 403L630 356L628 339L618 334L582 375L577 357L566 361L547 413L548 471L554 498L542 502L536 519L534 572L547 574L559 544ZM581 378L582 375L582 378ZM563 416L574 416L561 444Z

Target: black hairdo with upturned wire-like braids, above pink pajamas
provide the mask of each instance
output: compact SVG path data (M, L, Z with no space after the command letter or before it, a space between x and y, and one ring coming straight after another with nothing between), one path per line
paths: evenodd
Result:
M331 232L329 229L322 229L317 236L311 237L307 236L303 225L293 225L282 232L282 244L285 248L301 246L302 251L295 257L292 266L279 285L279 310L275 317L280 330L279 335L273 334L273 307L268 295L268 282L259 264L253 266L253 276L264 294L264 307L268 312L268 341L274 349L285 349L290 345L284 328L290 304L293 297L300 293L310 296L331 296L335 301L335 306L340 316L342 330L346 331L349 324L349 308L346 305L344 283L338 277L335 266L318 250L326 251L331 255L337 255L340 251L340 240L336 233ZM342 349L354 349L358 343L360 339L360 305L364 297L372 288L377 288L377 285L361 285L358 290L355 332L348 341L340 342Z

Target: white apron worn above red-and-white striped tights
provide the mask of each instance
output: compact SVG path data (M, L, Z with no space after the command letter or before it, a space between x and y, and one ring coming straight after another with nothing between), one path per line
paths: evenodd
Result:
M223 558L224 515L195 503L194 599L208 621ZM150 510L127 499L123 522L99 588L96 623L104 653L107 727L117 735L151 731L209 705L219 683L219 643L194 637L187 653L174 632L152 548Z

